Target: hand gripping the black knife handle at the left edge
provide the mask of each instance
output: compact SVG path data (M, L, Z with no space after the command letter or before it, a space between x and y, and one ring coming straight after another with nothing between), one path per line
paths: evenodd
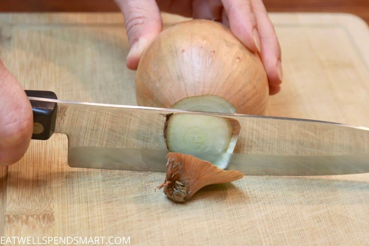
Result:
M32 128L30 101L0 60L0 166L21 159L30 144Z

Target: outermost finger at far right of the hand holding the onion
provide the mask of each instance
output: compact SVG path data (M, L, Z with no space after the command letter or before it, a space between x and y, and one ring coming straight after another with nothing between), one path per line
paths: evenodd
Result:
M261 40L260 57L268 75L269 84L277 86L282 83L283 79L281 49L277 34L263 2L252 0L252 3Z

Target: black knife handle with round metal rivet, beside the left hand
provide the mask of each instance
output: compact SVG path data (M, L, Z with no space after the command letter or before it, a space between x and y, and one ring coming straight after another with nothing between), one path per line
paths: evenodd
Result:
M25 90L28 97L56 98L52 91ZM32 139L47 140L54 133L57 105L54 102L30 100L33 111Z

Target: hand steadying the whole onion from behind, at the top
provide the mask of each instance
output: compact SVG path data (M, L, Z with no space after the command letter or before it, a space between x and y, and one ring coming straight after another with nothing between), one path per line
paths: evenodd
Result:
M262 0L115 0L121 8L131 50L127 67L135 70L145 48L162 31L160 11L216 20L230 27L252 52L259 52L269 80L269 94L282 83L281 51Z

